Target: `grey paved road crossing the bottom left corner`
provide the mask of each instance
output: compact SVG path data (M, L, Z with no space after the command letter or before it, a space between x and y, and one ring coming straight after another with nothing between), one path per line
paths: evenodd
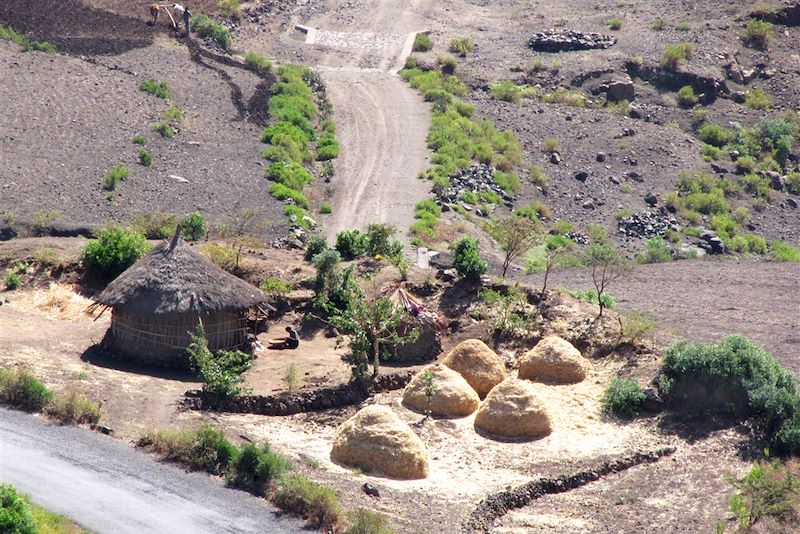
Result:
M0 481L99 534L288 533L266 501L81 428L0 409Z

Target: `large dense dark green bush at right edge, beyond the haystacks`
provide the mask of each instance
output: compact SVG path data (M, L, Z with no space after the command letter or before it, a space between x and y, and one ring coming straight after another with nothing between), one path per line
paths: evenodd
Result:
M715 345L679 341L666 349L666 399L678 406L752 417L778 453L800 452L800 395L790 371L741 335Z

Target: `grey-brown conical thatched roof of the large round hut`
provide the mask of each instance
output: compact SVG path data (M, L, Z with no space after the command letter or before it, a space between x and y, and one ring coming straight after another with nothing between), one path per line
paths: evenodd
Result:
M119 275L97 304L139 314L232 311L266 302L257 287L192 251L179 235Z

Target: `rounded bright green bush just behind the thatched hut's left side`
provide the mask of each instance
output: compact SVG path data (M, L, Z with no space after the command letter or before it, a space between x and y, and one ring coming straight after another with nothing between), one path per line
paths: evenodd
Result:
M100 230L97 239L83 249L86 268L112 280L150 250L144 235L134 229L115 226Z

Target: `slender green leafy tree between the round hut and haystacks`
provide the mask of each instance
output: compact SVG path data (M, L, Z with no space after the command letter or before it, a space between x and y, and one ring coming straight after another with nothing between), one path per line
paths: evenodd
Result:
M419 333L416 329L401 333L401 324L406 311L378 294L373 288L367 294L360 288L350 305L330 317L330 323L350 336L350 364L353 381L366 378L366 367L372 358L372 377L378 376L381 347L387 344L402 344L414 341Z

